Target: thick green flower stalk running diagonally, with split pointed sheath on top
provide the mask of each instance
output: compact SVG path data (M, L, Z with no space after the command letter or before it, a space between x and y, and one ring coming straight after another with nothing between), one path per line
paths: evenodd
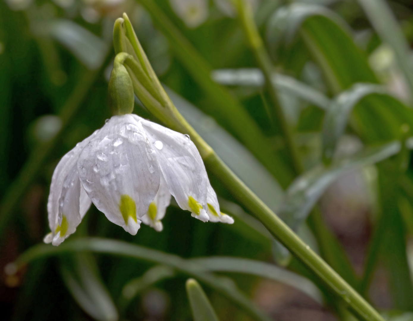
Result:
M135 94L147 109L159 120L173 130L189 134L197 146L205 166L216 177L219 177L228 191L244 205L250 213L259 219L268 231L285 245L290 252L303 262L318 276L338 297L348 304L349 309L362 320L383 321L378 312L371 307L356 290L342 279L321 257L309 248L282 220L272 212L216 155L197 132L178 112L163 87L159 83L152 67L142 50L138 38L133 32L126 14L115 23L114 43L116 53L126 50L135 59L137 69L133 70L132 62L125 59L126 69L131 75ZM129 31L127 31L129 30ZM128 40L128 41L126 41ZM145 71L146 76L141 72ZM135 73L135 71L138 71ZM148 83L148 81L150 83ZM159 100L158 100L159 99Z

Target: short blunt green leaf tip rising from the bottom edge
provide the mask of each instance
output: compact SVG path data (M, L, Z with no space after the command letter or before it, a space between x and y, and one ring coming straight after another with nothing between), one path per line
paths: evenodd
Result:
M202 287L194 279L185 283L194 321L218 321L218 316Z

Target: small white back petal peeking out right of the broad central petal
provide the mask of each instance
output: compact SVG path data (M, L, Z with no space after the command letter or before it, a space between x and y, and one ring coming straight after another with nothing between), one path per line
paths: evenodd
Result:
M153 227L158 232L162 231L164 227L161 220L165 217L166 208L170 203L171 193L169 193L165 179L163 175L161 175L158 192L151 205L149 205L148 212L142 216L142 222Z

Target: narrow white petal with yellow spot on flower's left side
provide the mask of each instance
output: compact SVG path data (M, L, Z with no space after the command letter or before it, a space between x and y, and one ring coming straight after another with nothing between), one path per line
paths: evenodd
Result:
M59 199L58 226L55 231L52 231L53 245L59 245L73 234L82 220L79 213L80 186L77 168L73 167L63 182L62 195Z

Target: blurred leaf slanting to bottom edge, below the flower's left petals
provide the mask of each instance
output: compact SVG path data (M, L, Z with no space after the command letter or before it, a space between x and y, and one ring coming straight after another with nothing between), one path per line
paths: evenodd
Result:
M93 319L116 321L118 312L109 292L101 281L92 255L81 253L74 256L74 271L60 264L64 283L79 306Z

